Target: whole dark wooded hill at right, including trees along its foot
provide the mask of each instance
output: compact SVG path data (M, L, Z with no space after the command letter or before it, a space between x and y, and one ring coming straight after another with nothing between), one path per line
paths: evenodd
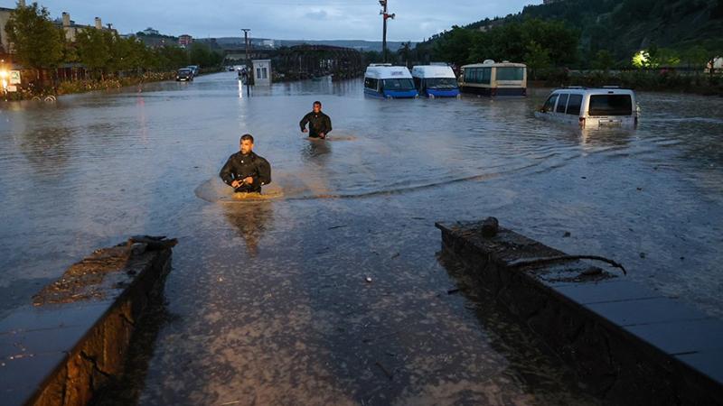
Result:
M455 26L419 43L415 57L457 65L523 61L533 74L554 67L702 70L723 54L721 32L723 0L567 0Z

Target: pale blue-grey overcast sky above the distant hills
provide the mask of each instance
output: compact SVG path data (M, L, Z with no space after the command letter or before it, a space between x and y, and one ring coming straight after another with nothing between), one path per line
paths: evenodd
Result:
M31 3L32 0L27 0ZM280 40L380 40L378 0L41 0L52 17L70 13L76 23L99 16L121 33L153 27L162 33L193 37L239 36L250 28L257 38ZM473 23L521 11L541 0L389 0L390 41L421 41L454 24ZM14 7L14 0L0 6Z

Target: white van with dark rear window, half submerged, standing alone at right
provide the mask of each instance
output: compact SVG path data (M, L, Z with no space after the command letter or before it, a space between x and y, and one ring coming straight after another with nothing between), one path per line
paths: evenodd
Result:
M535 116L585 128L634 126L638 123L638 107L630 89L559 88L549 94Z

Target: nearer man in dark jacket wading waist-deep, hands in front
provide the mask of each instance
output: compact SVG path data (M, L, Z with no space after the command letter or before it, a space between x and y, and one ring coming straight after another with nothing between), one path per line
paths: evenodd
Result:
M221 179L237 192L261 192L261 187L271 183L271 165L253 152L254 137L244 134L240 151L229 157L221 169Z

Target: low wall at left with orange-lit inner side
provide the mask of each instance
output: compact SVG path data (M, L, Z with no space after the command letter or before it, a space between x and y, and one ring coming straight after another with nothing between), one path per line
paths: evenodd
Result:
M174 240L98 250L0 320L4 405L87 404L122 374L128 344L163 289Z

